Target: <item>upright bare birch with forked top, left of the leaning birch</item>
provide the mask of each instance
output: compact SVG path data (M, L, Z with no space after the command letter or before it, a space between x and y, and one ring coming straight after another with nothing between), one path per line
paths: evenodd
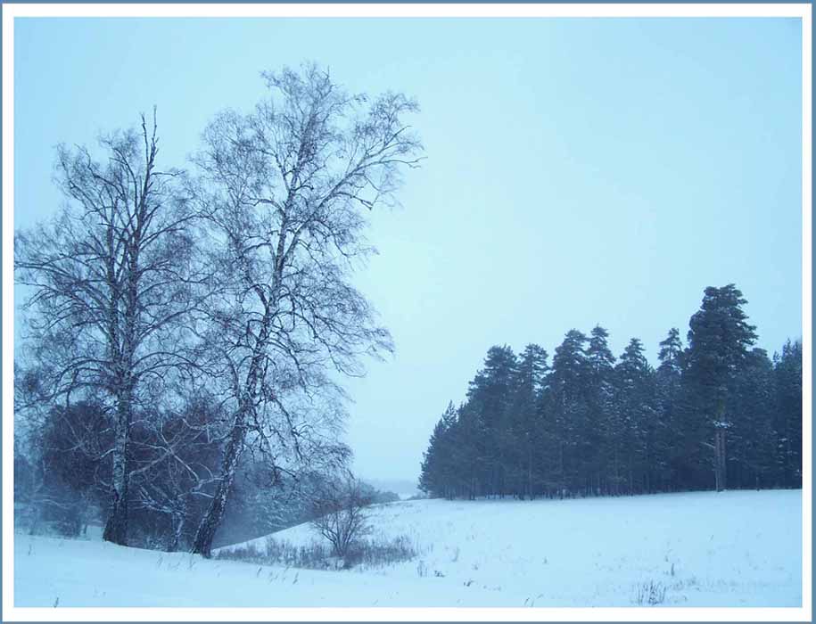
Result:
M104 539L126 544L128 443L142 390L161 391L189 362L194 238L182 173L158 168L155 111L139 130L100 139L103 160L60 146L55 177L66 204L49 224L18 232L17 283L28 287L25 341L42 396L107 400L114 431Z

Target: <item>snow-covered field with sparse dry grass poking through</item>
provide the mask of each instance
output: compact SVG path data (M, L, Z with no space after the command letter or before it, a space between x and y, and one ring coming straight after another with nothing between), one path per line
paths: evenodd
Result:
M801 511L801 492L791 490L402 501L372 510L375 536L408 536L420 554L375 571L295 570L18 535L14 603L633 606L648 602L646 585L663 606L800 606ZM275 538L316 539L308 525Z

